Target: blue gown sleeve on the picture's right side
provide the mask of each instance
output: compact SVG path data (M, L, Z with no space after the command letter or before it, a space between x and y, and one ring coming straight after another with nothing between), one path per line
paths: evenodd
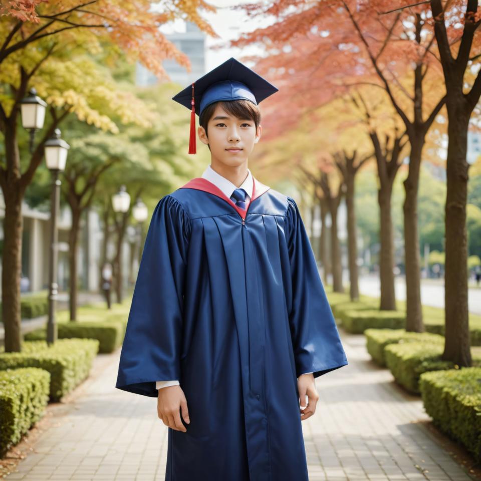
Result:
M348 364L299 208L288 197L288 250L292 293L289 312L296 372L314 377Z

